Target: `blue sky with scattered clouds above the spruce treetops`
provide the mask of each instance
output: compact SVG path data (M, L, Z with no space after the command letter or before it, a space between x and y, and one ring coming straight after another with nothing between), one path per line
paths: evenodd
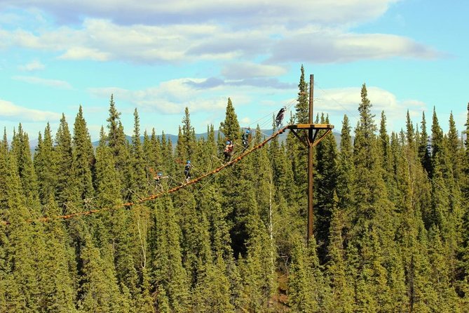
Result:
M311 3L310 3L311 2ZM114 94L125 132L218 128L231 98L241 126L271 126L293 105L300 67L315 112L358 119L367 84L377 117L400 131L436 107L460 131L469 102L469 3L462 0L0 0L0 126L37 138L79 105L93 140ZM428 129L428 131L430 131Z

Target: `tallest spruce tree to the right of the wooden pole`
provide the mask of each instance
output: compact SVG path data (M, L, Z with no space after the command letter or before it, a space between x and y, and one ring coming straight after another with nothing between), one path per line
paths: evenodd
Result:
M350 262L351 275L355 277L355 305L357 309L374 312L378 307L389 305L390 298L383 298L379 290L388 290L385 259L383 255L392 251L393 219L392 203L388 201L383 180L383 168L379 156L376 125L371 113L371 102L367 98L365 84L361 91L362 102L358 107L360 121L355 129L353 159L356 173L354 177L354 214L351 241L348 249L353 261ZM384 252L388 245L389 252ZM355 273L355 274L353 274Z

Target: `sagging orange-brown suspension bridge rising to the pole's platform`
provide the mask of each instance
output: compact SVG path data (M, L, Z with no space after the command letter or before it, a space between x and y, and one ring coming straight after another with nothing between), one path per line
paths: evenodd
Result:
M157 194L151 194L149 197L139 199L138 201L126 202L124 204L120 204L118 206L112 206L112 207L109 207L109 208L96 208L96 209L92 209L92 210L88 210L88 211L76 212L76 213L71 213L71 214L67 214L67 215L57 215L57 216L53 216L53 217L43 217L43 218L30 219L30 220L27 220L27 222L47 222L48 220L60 220L60 219L66 220L66 219L69 219L69 218L74 218L76 216L90 215L90 214L97 213L97 212L109 211L109 210L113 210L113 209L117 209L117 208L123 208L123 207L130 207L130 206L134 206L135 204L142 204L143 202L151 201L151 200L157 199L159 197L163 197L165 194L171 194L173 192L177 192L179 189L182 189L182 188L187 187L189 185L194 185L197 182L200 182L200 180L203 180L204 178L207 178L210 175L215 175L219 171L222 171L224 168L237 163L238 161L243 159L248 154L251 154L252 152L256 151L257 149L260 149L261 147L264 147L264 145L266 145L267 142L271 141L273 138L276 138L281 133L284 133L285 130L287 130L287 128L290 128L290 126L284 126L283 128L280 128L278 131L276 131L276 133L273 133L269 138L266 138L263 142L259 143L258 145L255 145L251 149L248 149L247 151L243 152L242 154L236 156L235 158L233 158L231 161L227 162L226 164L223 164L222 166L219 166L219 168L215 168L214 170L209 171L208 173L204 173L203 175L200 175L198 178L194 178L193 180L189 180L189 182L186 182L186 183L183 183L182 185L179 185L177 187L173 187L171 189L168 189L165 192L159 192ZM10 225L10 222L8 222L6 220L2 220L0 222L0 224Z

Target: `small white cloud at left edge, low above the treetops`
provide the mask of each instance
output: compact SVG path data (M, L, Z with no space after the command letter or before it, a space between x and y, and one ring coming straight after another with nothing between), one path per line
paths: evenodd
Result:
M57 121L61 114L20 107L6 100L0 100L0 119L4 121Z

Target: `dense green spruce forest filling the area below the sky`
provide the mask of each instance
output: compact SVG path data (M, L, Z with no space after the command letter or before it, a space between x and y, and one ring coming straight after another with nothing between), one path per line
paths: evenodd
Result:
M308 123L303 67L298 86L284 125ZM175 145L141 133L137 109L124 130L112 95L97 147L82 107L73 125L45 125L33 152L21 124L5 130L0 312L469 312L469 141L458 131L469 133L469 105L447 133L435 109L431 121L403 112L407 127L389 133L364 84L357 116L336 125L339 144L329 134L315 147L308 243L308 152L290 131L164 192L186 160L192 178L221 166L226 138L240 153L230 99L219 132L201 138L186 108ZM266 137L253 129L250 147Z

